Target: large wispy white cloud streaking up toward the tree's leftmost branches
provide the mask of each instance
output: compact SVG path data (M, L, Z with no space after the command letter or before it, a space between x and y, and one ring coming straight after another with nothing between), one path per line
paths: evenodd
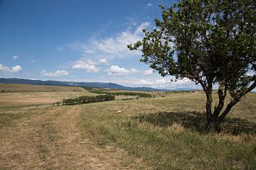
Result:
M148 28L149 22L142 23L134 31L125 30L118 33L114 37L109 38L91 38L89 42L75 41L66 45L66 47L76 52L82 53L83 57L86 58L102 58L107 60L114 58L132 57L139 56L139 51L130 51L127 45L133 44L138 40L142 40L144 34L142 33L143 28Z

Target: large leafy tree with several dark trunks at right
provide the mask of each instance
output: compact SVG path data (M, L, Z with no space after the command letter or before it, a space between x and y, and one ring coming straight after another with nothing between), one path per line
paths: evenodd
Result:
M156 29L130 50L141 50L142 62L161 76L188 78L206 93L206 130L220 123L240 99L256 86L256 1L181 0L162 8ZM212 106L213 85L218 104ZM229 93L231 100L224 107Z

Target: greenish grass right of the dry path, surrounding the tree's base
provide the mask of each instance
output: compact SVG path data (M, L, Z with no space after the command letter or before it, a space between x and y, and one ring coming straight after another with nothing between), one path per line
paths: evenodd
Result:
M255 94L246 100L250 108L233 108L220 134L203 132L201 92L92 103L81 121L98 145L123 147L155 169L256 169Z

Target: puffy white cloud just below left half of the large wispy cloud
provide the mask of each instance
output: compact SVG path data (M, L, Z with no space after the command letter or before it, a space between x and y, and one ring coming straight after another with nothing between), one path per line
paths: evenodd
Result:
M97 63L92 60L78 60L75 64L73 64L73 69L84 69L85 72L99 72L100 68L96 67Z

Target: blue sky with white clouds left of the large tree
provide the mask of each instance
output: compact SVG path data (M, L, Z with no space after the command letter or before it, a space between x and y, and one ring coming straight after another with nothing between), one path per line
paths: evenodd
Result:
M143 38L142 28L154 28L159 4L172 3L0 0L0 77L195 88L161 77L127 49Z

